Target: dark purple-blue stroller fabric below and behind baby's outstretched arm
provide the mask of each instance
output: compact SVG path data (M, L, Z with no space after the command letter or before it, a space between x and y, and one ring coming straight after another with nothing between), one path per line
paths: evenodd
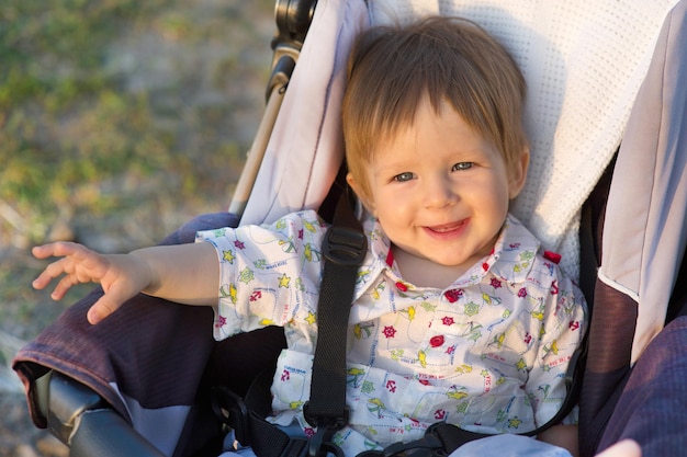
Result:
M192 243L199 230L237 224L238 219L228 213L202 215L161 244ZM97 288L68 308L13 361L38 427L46 427L47 423L37 404L35 380L54 369L98 392L126 420L126 407L112 385L145 409L192 405L187 425L190 429L183 432L181 442L193 447L206 438L199 437L199 432L216 433L213 424L218 430L219 423L212 422L209 412L210 387L225 385L239 392L246 390L260 372L270 366L273 370L272 361L285 344L283 330L277 328L216 343L211 308L178 305L142 294L91 325L86 312L101 295L102 289ZM198 412L196 408L205 412ZM210 422L204 419L207 416Z

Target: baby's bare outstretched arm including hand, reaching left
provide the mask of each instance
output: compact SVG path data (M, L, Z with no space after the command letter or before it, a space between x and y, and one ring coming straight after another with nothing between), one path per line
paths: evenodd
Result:
M61 299L79 283L100 283L104 295L88 311L90 323L98 323L139 292L184 305L215 305L219 265L209 243L145 248L129 254L99 254L69 242L33 249L37 259L58 256L33 282L45 288L63 276L52 297Z

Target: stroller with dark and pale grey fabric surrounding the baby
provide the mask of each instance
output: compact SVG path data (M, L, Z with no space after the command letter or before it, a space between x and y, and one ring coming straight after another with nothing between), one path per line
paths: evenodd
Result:
M200 216L162 243L300 208L331 218L348 49L358 31L390 20L391 11L472 19L520 65L532 162L513 209L563 254L564 270L578 275L593 304L577 376L582 453L633 437L645 456L677 455L687 444L687 400L679 396L687 374L684 0L279 5L266 119L229 212ZM273 369L280 329L215 343L211 310L145 296L90 327L83 313L99 294L67 310L13 362L36 426L72 456L217 455L223 432L211 386L247 395L254 378Z

